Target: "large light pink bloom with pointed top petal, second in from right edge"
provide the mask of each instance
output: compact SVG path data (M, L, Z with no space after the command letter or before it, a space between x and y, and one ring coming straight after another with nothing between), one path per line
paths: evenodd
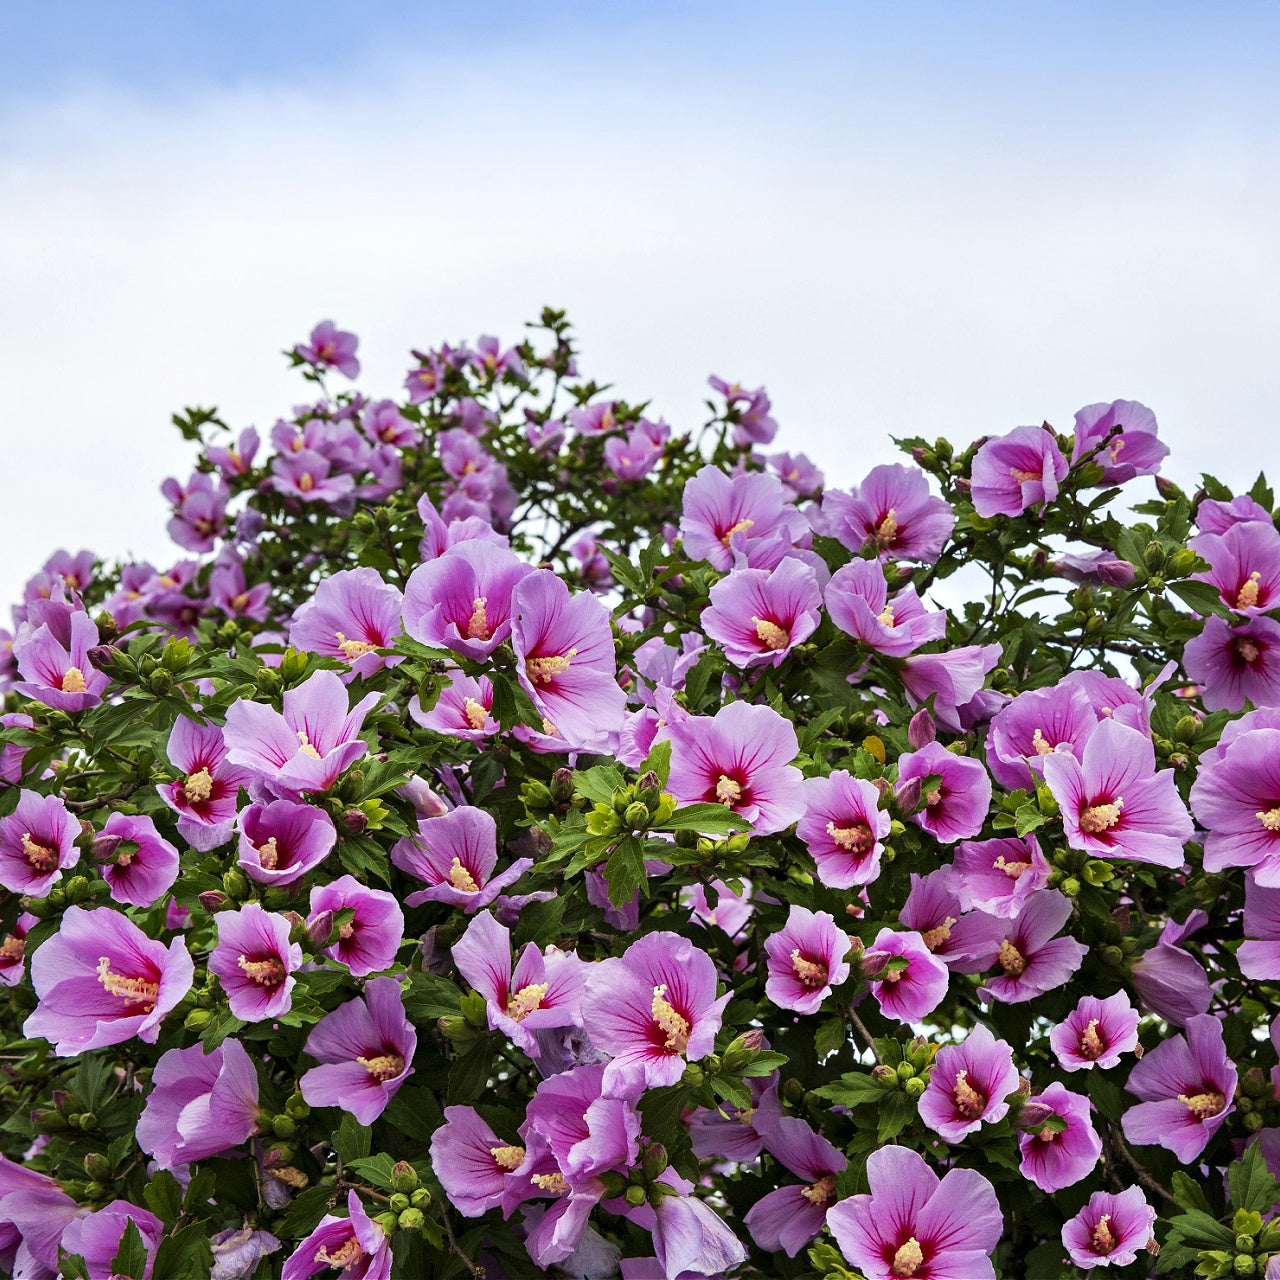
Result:
M1194 827L1170 769L1156 772L1151 739L1116 719L1103 721L1080 760L1044 756L1044 781L1062 809L1073 849L1157 867L1181 867Z

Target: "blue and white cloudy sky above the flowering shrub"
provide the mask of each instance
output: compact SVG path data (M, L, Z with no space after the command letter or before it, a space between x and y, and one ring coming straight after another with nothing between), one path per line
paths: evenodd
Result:
M184 403L269 426L279 351L511 338L672 421L769 387L833 483L893 434L1137 398L1169 470L1280 470L1280 6L58 4L0 33L0 594L160 562Z

